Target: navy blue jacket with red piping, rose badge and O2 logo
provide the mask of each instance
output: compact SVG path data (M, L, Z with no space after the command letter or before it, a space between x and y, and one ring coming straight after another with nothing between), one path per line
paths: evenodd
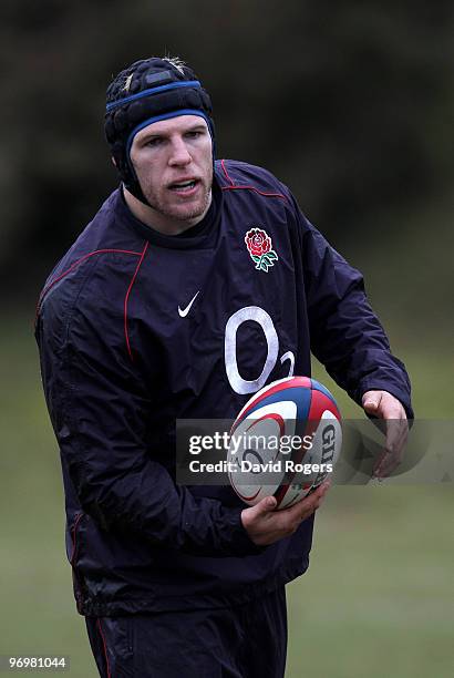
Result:
M168 237L115 191L40 298L81 614L229 605L308 567L312 518L259 548L229 487L175 484L176 419L234 419L265 383L309 376L311 351L355 401L385 389L411 414L404 366L361 275L289 191L265 170L223 161L214 195L200 224ZM261 269L245 242L254 228L276 254Z

